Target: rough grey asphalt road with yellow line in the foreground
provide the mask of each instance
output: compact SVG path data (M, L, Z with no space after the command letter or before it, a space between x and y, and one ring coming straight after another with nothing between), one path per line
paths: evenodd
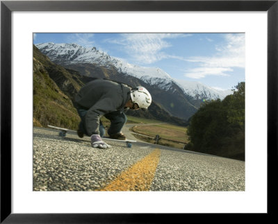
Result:
M33 129L34 191L245 191L245 162L143 142L92 148L74 132Z

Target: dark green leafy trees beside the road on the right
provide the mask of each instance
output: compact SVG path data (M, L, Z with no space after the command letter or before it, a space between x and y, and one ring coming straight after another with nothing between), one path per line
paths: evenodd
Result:
M204 103L190 119L188 150L244 160L245 83L234 94Z

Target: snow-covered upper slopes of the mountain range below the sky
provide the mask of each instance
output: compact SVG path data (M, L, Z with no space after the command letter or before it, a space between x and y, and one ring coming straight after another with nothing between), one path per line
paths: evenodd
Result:
M79 44L54 44L43 43L36 44L35 46L40 49L44 55L47 55L51 61L61 64L95 64L102 67L115 67L118 72L128 74L130 76L139 78L149 85L156 85L158 88L165 91L176 92L177 85L184 94L193 97L195 100L201 99L215 99L224 98L228 94L232 94L231 91L220 91L202 85L202 83L188 82L186 80L175 80L165 71L160 68L152 67L139 67L134 64L129 64L120 60L119 58L113 58L107 53L98 51L95 47L84 48Z

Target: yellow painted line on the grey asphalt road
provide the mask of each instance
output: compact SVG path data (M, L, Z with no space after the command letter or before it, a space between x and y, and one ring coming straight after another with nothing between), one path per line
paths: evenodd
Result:
M99 191L149 191L161 150L156 148Z

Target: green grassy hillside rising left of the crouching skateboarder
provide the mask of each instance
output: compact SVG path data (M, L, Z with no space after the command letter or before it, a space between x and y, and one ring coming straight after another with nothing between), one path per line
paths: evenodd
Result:
M36 53L35 49L34 53ZM76 129L79 124L79 116L70 97L64 94L49 77L49 72L42 63L47 62L47 58L42 58L40 55L38 58L41 60L33 58L34 126L51 124Z

